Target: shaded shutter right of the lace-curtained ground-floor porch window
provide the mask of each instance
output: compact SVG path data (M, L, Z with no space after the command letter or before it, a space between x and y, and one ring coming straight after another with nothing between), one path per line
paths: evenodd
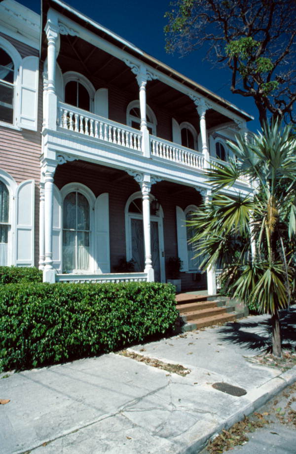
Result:
M110 273L109 194L101 194L95 204L97 272Z

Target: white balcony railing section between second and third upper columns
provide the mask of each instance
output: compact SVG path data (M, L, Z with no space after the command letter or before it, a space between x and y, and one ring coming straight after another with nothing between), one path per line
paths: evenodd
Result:
M158 139L155 136L150 136L150 144L152 156L189 167L204 169L204 157L198 151L190 150L164 139Z

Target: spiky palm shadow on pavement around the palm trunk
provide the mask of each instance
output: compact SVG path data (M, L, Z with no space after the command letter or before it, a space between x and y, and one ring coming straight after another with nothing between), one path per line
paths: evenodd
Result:
M218 333L224 341L239 344L250 350L271 350L270 316L254 316L241 322L227 323ZM282 347L296 350L296 307L280 312Z

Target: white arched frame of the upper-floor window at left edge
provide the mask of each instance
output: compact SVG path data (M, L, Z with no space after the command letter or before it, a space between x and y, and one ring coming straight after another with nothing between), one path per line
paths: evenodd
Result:
M10 56L13 61L14 66L14 75L13 75L13 123L6 123L0 121L1 126L9 127L11 129L21 128L17 126L18 117L19 117L19 69L22 61L22 57L16 48L7 40L0 37L0 47Z

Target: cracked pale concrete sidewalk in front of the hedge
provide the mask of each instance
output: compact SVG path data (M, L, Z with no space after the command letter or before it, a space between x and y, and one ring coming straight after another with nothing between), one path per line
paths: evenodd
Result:
M294 347L295 328L294 307L283 330ZM267 318L248 317L131 349L181 364L185 377L111 353L0 379L0 398L11 400L0 405L0 453L196 454L296 380L296 367L281 373L247 361L266 348L268 330Z

